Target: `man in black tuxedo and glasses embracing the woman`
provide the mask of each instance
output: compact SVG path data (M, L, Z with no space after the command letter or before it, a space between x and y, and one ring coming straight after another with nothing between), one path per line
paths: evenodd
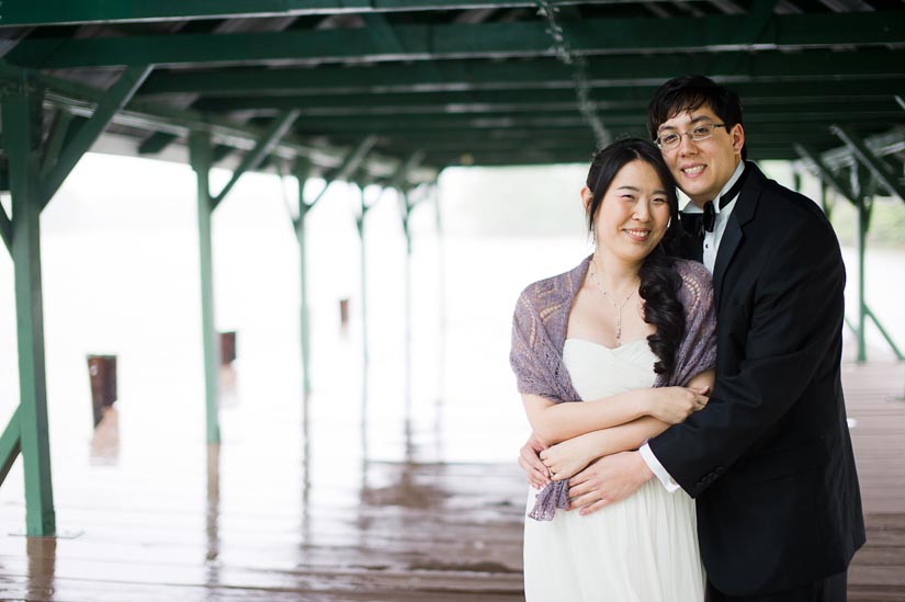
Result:
M840 383L839 243L816 204L744 160L731 90L672 79L647 127L693 202L683 253L713 274L716 385L685 423L573 477L572 506L592 512L657 478L697 500L710 602L842 601L864 524ZM522 457L536 468L531 444Z

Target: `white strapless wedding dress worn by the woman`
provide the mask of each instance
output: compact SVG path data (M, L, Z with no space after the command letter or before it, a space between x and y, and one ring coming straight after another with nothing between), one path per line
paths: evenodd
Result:
M568 339L563 354L581 399L654 384L657 357L646 340L609 349ZM538 493L529 490L527 511ZM587 516L557 510L552 521L525 518L524 593L528 602L702 601L694 500L654 478Z

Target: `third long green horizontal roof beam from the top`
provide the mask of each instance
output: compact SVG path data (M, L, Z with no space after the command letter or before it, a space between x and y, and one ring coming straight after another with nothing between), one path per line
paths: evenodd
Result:
M713 53L622 55L587 57L588 83L596 88L656 87L676 73L706 73L736 88L739 83L839 83L905 75L902 50L859 48L778 53L759 50L738 55L738 69L714 70ZM155 70L139 95L200 94L327 94L417 91L500 90L507 88L566 88L574 86L572 70L555 58L531 61L461 59L412 64L319 65L309 68L216 70ZM719 67L717 67L719 68ZM744 96L745 94L743 94Z

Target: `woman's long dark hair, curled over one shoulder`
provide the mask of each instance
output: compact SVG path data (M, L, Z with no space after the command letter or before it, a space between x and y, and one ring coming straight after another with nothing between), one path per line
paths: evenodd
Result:
M588 171L587 185L591 191L588 207L588 230L593 235L595 218L603 195L616 173L632 161L644 161L654 168L666 190L669 203L669 226L663 240L644 258L638 270L638 295L644 299L644 321L657 331L647 337L651 351L659 357L654 364L657 374L672 374L676 368L676 350L685 336L685 310L678 297L681 279L672 263L679 239L679 201L676 181L663 160L659 149L641 138L618 140L593 156Z

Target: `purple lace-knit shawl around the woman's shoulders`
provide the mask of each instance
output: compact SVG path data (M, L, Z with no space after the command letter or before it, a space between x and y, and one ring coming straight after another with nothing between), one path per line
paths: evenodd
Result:
M585 282L591 257L564 274L529 285L519 297L509 353L519 393L539 395L556 404L581 401L563 363L563 347L572 304ZM682 281L678 296L685 307L686 331L676 350L675 371L668 379L658 374L655 387L685 385L716 364L716 317L710 274L694 261L677 259L675 266ZM528 515L551 521L557 508L568 508L568 480L547 484Z

